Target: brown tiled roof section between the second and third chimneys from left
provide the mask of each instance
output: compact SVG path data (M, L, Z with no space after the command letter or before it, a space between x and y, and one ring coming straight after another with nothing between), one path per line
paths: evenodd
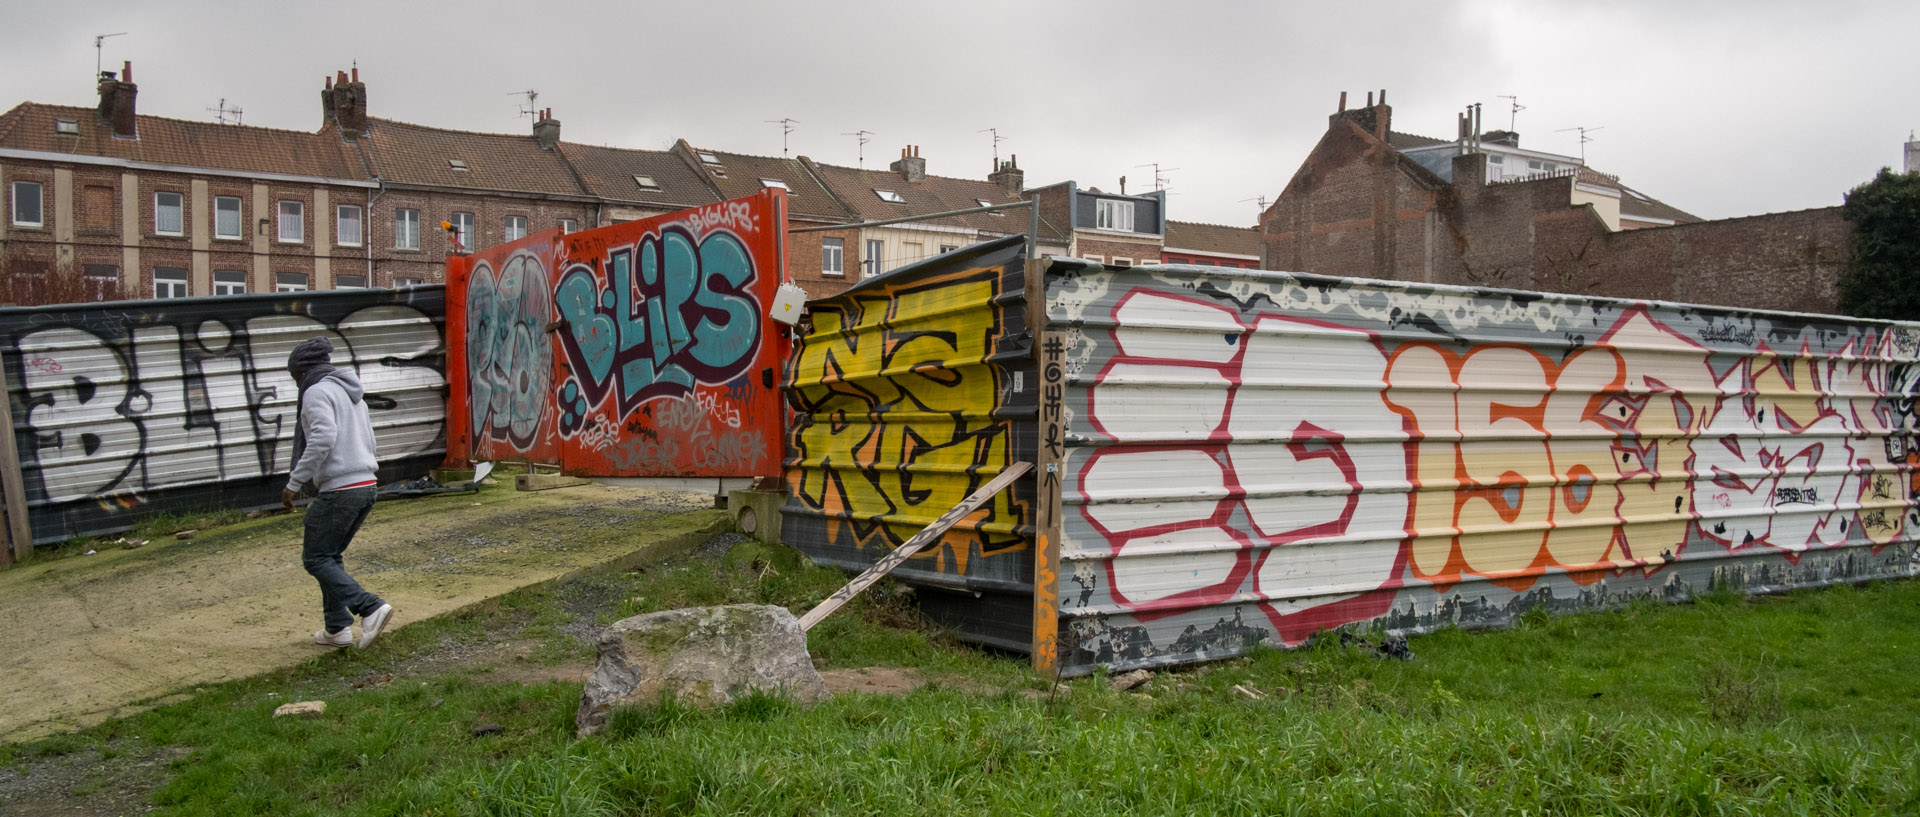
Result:
M444 130L369 117L361 144L372 173L388 182L588 196L561 153L541 150L532 134ZM449 161L467 169L455 171Z

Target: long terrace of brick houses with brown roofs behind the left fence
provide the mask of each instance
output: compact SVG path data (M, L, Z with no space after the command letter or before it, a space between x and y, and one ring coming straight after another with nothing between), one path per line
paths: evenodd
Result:
M136 96L129 63L102 75L98 107L27 102L0 113L6 274L81 276L90 297L432 284L459 249L770 186L787 190L793 226L845 226L789 240L789 274L814 297L1029 228L1023 209L868 224L877 221L1033 198L1043 255L1108 263L1160 261L1169 230L1164 194L1029 190L1018 159L977 180L929 175L918 148L870 171L685 140L586 146L561 140L551 109L526 134L378 119L357 71L323 81L313 132L138 115Z

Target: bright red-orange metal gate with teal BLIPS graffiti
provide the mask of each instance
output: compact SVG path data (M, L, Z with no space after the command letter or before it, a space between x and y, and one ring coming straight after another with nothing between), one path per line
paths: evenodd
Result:
M449 261L455 451L582 476L772 476L785 194Z

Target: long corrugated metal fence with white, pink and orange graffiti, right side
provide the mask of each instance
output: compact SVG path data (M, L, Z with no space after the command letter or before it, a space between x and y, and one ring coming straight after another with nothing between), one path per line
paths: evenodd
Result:
M1920 572L1920 326L1056 263L1060 660Z

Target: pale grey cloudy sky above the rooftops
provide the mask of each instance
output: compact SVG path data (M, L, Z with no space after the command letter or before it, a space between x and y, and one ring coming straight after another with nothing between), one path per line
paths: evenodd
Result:
M1334 8L1338 6L1338 8ZM134 61L140 111L319 127L355 61L371 113L570 142L791 152L1127 190L1160 163L1183 221L1252 224L1342 90L1386 88L1394 130L1450 138L1486 107L1521 146L1578 153L1709 219L1824 207L1920 128L1920 2L88 2L0 0L0 107L90 105L94 35Z

